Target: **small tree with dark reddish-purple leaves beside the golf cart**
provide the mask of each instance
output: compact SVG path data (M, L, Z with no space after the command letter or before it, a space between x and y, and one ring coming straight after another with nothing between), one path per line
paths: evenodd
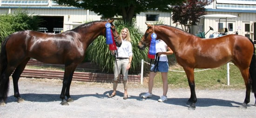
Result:
M173 23L180 23L183 31L188 31L189 26L197 25L198 17L205 15L205 8L211 3L211 0L187 0L181 5L173 6Z

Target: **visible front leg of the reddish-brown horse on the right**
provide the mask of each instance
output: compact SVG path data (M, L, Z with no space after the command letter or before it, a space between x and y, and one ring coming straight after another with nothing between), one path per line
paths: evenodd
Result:
M187 104L190 105L189 110L195 110L195 103L196 103L197 99L196 99L196 95L195 95L194 68L189 68L189 67L183 67L183 68L188 77L190 93L191 93Z

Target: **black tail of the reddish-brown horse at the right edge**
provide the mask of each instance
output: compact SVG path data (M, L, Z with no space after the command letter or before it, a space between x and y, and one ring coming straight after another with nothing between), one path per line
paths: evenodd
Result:
M255 56L255 47L254 43L252 40L249 38L250 42L253 44L253 55L250 63L250 68L249 68L249 74L250 74L250 83L252 87L252 92L256 92L256 56Z

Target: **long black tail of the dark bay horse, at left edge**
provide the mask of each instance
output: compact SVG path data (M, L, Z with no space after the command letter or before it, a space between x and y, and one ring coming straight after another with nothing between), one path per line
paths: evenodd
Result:
M6 53L6 43L7 40L10 38L10 35L8 37L5 38L5 40L2 42L1 45L1 54L0 54L0 88L3 88L3 99L4 101L7 100L7 95L8 95L8 91L9 91L9 79L4 82L4 78L3 78L3 73L7 68L7 53ZM4 87L1 87L4 86Z

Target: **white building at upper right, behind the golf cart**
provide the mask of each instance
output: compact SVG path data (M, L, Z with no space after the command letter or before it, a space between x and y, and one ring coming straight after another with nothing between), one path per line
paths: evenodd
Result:
M204 31L209 31L211 26L214 31L209 31L205 37L218 31L220 28L228 28L229 34L238 31L239 35L256 40L256 0L214 0L206 7L207 14L229 14L237 18L227 19L205 19ZM197 26L193 28L193 34L197 31Z

